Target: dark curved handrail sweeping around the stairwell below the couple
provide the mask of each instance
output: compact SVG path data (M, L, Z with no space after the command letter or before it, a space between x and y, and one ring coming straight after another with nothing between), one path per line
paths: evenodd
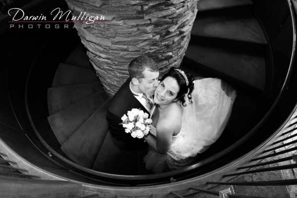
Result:
M293 1L293 0L292 0ZM30 116L30 111L28 108L28 101L27 101L27 90L28 90L28 81L29 81L29 77L31 74L31 70L32 67L36 61L33 61L32 67L29 71L29 75L27 77L27 82L26 82L26 88L25 88L25 104L26 104L26 111L27 111L27 115L29 118L29 121L31 123L31 126L34 130L34 132L36 133L37 137L39 138L39 140L42 142L42 144L51 152L51 154L55 155L56 157L60 158L63 162L71 165L72 167L75 167L77 169L80 169L86 173L90 173L90 174L94 174L96 176L99 177L103 177L103 178L111 178L111 179L119 179L119 180L151 180L151 179L159 179L159 178L170 178L172 176L176 176L179 174L183 174L185 172L188 172L190 170L195 170L200 166L209 164L211 162L213 162L214 160L217 160L219 158L221 158L222 156L226 155L227 153L229 153L230 151L234 150L235 148L238 148L240 145L242 145L248 138L250 138L252 135L254 135L254 133L259 129L260 126L263 125L263 123L268 119L268 117L272 114L272 111L276 108L276 105L279 103L280 99L282 98L282 96L284 95L286 88L289 84L289 80L291 77L291 73L293 71L293 67L294 67L294 62L295 62L295 54L296 54L296 24L295 24L295 18L294 18L294 11L292 8L292 4L290 2L290 0L288 0L289 3L289 7L290 7L290 13L291 13L291 19L293 22L293 49L292 49L292 54L291 54L291 60L290 60L290 65L289 65L289 69L285 78L285 81L283 83L283 86L281 88L281 91L279 92L276 100L274 101L274 103L272 104L272 106L270 107L270 109L268 110L268 112L266 112L266 114L264 115L264 117L241 139L239 139L237 142L235 142L233 145L229 146L228 148L225 148L224 150L214 154L211 157L208 157L202 161L199 161L193 165L181 168L179 170L174 170L174 171L170 171L170 172L165 172L165 173L160 173L160 174L154 174L154 175L118 175L118 174L110 174L110 173L104 173L104 172L100 172L100 171L95 171L86 167L83 167L81 165L78 165L68 159L66 159L65 157L63 157L62 155L60 155L59 153L57 153L54 149L52 149L47 143L46 141L39 135L36 127L34 126L33 120ZM294 9L296 9L296 5L294 4ZM42 49L41 49L42 50ZM36 57L39 55L39 53L36 55Z

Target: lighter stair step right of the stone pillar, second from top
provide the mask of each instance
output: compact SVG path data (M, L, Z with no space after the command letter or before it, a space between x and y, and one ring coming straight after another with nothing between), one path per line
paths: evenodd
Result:
M193 37L202 37L202 39L205 37L219 38L261 45L267 44L261 27L250 12L241 12L236 15L217 14L197 17L191 31L191 42Z

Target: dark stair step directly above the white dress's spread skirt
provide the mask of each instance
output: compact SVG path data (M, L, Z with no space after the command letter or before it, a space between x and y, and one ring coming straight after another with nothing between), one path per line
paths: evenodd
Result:
M210 70L215 72L217 77L233 78L257 90L264 90L263 56L247 54L230 46L189 45L185 57L184 61L197 69Z

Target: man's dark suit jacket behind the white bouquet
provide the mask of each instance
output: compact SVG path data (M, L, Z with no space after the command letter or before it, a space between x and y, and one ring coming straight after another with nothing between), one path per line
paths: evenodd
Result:
M118 140L125 142L128 149L142 149L147 147L144 139L132 138L131 134L125 133L125 129L120 124L122 123L121 117L130 111L132 108L140 108L148 113L148 110L134 97L130 90L131 79L122 85L118 92L111 99L109 108L106 113L106 120L112 136Z

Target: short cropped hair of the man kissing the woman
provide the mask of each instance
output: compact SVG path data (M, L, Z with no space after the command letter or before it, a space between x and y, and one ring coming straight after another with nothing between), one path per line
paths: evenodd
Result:
M134 58L129 66L128 72L132 78L141 79L145 78L144 71L148 69L148 71L158 71L158 66L151 58L148 56L138 56Z

